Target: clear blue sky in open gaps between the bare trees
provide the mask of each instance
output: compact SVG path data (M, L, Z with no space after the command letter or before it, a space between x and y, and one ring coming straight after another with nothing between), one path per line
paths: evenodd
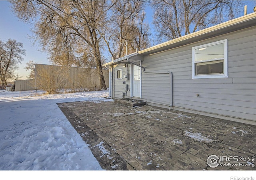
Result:
M28 72L24 69L26 66L26 62L30 60L34 60L34 62L40 64L50 64L47 59L48 54L41 52L39 50L39 44L33 44L33 42L28 39L28 36L32 36L32 32L30 30L33 25L25 24L20 21L11 11L9 7L10 3L8 1L0 0L0 39L2 41L7 41L10 39L15 39L17 42L22 42L24 45L24 49L26 50L26 56L24 56L24 60L22 64L20 64L20 68L17 70L19 76L22 76L20 79L26 79ZM253 12L253 7L256 6L256 1L248 1L248 14ZM151 8L146 8L146 16L148 17L149 23L152 21L152 10ZM240 16L242 16L241 14ZM151 29L153 31L154 28Z

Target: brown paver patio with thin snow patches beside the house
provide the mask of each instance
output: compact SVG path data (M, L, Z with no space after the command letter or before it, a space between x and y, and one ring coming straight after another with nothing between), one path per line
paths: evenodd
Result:
M106 170L255 170L256 126L113 101L58 106ZM211 168L210 155L250 166Z

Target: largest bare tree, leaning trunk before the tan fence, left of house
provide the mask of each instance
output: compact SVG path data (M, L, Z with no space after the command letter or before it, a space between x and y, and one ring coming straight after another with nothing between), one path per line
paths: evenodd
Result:
M101 88L106 89L102 72L100 34L110 1L11 1L16 15L27 22L40 16L35 24L36 39L48 52L53 51L53 60L65 58L70 65L75 55L74 44L86 44L92 52L98 71ZM58 54L60 53L60 54Z

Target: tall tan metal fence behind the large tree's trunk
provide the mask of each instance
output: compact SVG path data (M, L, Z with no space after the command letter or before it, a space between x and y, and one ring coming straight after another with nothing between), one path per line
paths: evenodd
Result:
M103 69L106 87L109 87L108 70ZM58 88L80 88L93 90L100 87L100 79L96 68L81 68L35 64L35 86L57 86ZM47 82L47 83L46 83Z

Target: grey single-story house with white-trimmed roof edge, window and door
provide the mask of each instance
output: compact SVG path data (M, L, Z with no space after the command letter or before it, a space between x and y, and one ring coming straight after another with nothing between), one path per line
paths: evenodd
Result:
M104 66L113 99L256 124L256 12Z

